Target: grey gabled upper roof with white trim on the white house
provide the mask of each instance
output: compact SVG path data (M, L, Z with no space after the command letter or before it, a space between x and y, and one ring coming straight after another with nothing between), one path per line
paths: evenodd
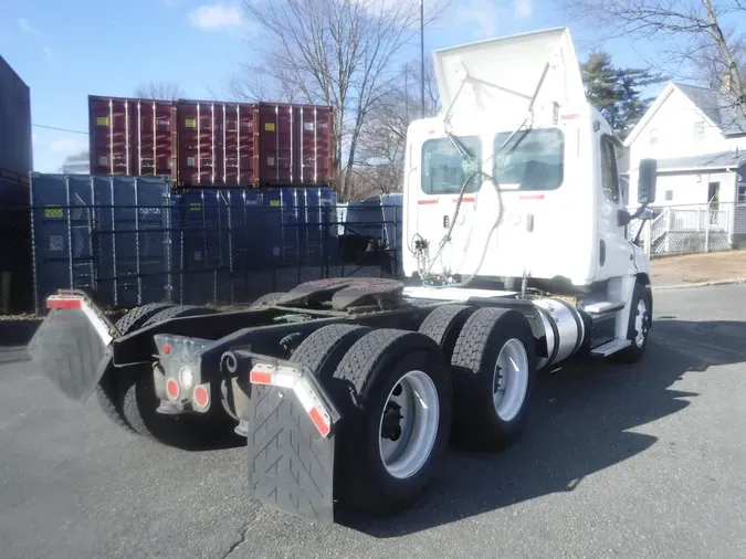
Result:
M624 139L624 146L629 147L634 141L675 89L685 95L700 109L708 124L718 127L724 135L746 134L746 116L734 105L732 99L714 89L669 82Z

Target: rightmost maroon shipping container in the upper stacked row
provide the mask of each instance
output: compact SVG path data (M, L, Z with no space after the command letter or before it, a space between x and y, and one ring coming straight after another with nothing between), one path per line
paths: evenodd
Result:
M260 103L260 183L330 183L333 115L332 107Z

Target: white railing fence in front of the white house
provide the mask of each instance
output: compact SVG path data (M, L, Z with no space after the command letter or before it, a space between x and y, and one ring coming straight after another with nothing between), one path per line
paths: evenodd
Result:
M634 220L628 228L630 240L640 233L641 246L649 256L727 251L746 240L746 204L670 205L652 210L654 218Z

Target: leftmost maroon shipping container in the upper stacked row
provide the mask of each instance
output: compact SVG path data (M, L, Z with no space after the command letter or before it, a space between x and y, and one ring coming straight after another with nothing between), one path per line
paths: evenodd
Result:
M172 175L176 105L168 101L88 96L92 175Z

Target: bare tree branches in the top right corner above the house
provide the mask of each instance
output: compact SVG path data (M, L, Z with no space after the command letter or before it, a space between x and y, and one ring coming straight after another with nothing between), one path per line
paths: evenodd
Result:
M746 116L746 42L734 27L746 18L744 0L565 1L576 19L609 30L605 39L661 41L663 70L716 87Z

